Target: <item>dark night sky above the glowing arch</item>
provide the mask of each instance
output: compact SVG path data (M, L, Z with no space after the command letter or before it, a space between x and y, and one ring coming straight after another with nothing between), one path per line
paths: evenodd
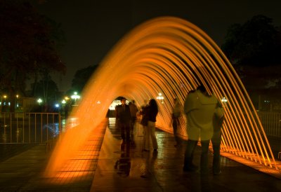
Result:
M177 16L197 25L218 44L227 29L254 15L273 18L281 25L278 0L33 0L39 13L62 24L67 44L62 50L67 74L54 76L60 90L70 89L77 70L99 64L133 27L158 16Z

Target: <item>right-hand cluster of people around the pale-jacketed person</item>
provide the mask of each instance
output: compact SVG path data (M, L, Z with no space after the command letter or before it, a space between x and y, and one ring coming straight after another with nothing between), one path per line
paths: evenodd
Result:
M183 108L183 109L182 109ZM178 137L178 126L180 125L181 114L187 118L188 142L185 149L183 171L195 172L198 166L193 164L193 155L198 142L201 144L200 173L209 172L208 151L211 141L213 147L213 174L221 173L221 127L223 124L224 112L221 103L214 95L208 94L203 85L196 90L189 92L185 98L184 106L181 107L178 99L174 99L174 109L171 114L172 127L176 140L175 146L181 146L181 137Z

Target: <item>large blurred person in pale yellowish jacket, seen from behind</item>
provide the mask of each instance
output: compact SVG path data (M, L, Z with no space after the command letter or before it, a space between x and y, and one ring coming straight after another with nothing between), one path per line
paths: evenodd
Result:
M208 95L206 88L200 85L185 98L184 112L187 117L188 144L185 151L183 171L196 171L192 163L193 153L198 140L201 141L202 153L200 172L208 173L209 142L214 134L214 116L221 116L219 102L214 95Z

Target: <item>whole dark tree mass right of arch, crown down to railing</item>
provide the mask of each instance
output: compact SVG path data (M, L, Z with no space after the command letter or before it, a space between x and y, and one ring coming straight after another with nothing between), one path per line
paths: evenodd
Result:
M222 50L257 109L263 109L260 100L270 100L273 108L280 103L281 28L271 18L256 15L243 25L231 25Z

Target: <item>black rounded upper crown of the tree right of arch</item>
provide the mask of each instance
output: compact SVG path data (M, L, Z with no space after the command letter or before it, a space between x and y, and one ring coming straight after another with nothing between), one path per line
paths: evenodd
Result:
M233 64L266 67L281 63L281 31L273 20L256 15L228 29L222 50Z

